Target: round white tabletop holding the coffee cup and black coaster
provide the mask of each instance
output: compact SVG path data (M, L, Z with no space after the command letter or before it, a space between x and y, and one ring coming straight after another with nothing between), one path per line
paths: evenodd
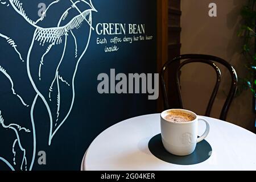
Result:
M95 171L159 170L256 170L256 135L242 127L204 117L210 125L206 138L212 155L188 166L164 162L151 154L148 142L160 133L160 114L143 115L119 122L90 144L81 169ZM199 135L205 124L199 122Z

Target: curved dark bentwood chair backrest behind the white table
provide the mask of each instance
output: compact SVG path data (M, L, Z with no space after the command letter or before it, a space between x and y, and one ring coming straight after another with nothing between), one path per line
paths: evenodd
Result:
M176 89L177 89L177 93L179 96L178 99L179 99L179 104L180 104L181 109L183 109L183 102L181 99L181 92L180 92L180 79L179 79L180 69L182 67L184 67L184 65L187 65L189 63L205 63L205 64L210 65L212 68L214 68L216 75L217 75L217 80L216 80L216 84L215 84L213 92L212 92L212 96L210 97L210 100L209 100L209 103L207 106L207 110L205 112L205 116L210 115L210 111L212 110L213 102L216 98L218 88L220 86L220 81L221 81L221 72L215 63L220 63L228 69L228 71L231 75L231 78L232 78L231 79L232 84L230 86L229 94L226 98L225 104L222 107L221 114L220 114L220 119L225 121L226 115L228 114L229 107L231 105L231 102L232 102L234 95L236 94L236 90L237 90L238 79L237 79L236 70L232 67L232 65L230 65L224 59L221 59L220 57L216 57L216 56L210 56L210 55L199 55L199 54L180 55L179 57L176 57L175 59L167 61L167 63L164 64L164 66L160 72L164 109L171 109L169 106L169 102L168 102L168 94L167 94L167 89L166 89L166 81L164 80L164 73L167 71L168 67L172 63L177 62L177 61L180 61L180 65L179 65L179 68L177 68L175 80L176 80Z

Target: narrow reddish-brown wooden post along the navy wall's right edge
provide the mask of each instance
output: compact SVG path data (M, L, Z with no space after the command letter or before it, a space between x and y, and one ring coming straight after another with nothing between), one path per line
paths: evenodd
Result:
M168 60L168 0L157 0L157 71ZM163 110L163 100L160 90L159 80L159 98L157 110Z

